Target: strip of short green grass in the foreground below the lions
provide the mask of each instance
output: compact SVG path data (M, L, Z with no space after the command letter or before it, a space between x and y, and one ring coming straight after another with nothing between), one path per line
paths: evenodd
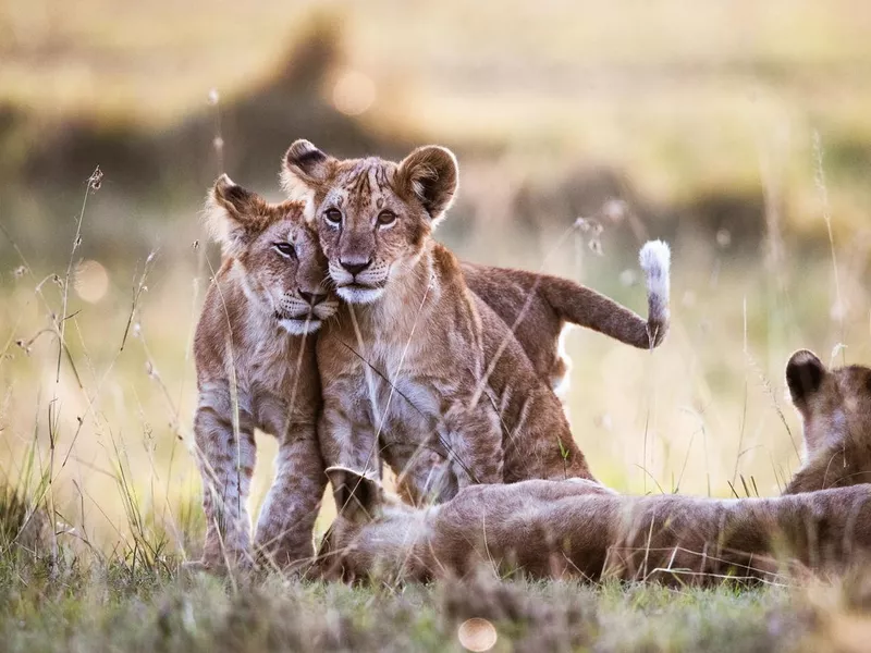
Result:
M796 650L825 631L802 591L673 591L523 580L398 590L289 582L232 586L122 560L0 563L7 651L443 651L487 619L495 651ZM860 617L851 617L862 620Z

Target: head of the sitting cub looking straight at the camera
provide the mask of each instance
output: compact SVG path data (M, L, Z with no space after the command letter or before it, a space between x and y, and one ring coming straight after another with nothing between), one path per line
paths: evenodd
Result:
M418 261L457 187L450 150L426 146L400 163L377 157L339 160L308 140L284 158L282 181L306 202L336 293L351 304L375 301Z

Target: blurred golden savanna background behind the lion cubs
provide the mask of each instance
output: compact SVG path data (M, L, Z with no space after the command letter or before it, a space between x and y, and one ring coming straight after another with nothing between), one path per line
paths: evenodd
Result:
M668 241L660 349L567 338L576 439L622 491L776 494L789 354L871 364L869 34L862 0L2 0L0 473L71 538L192 545L203 199L223 171L280 198L308 138L452 148L443 242L641 313Z

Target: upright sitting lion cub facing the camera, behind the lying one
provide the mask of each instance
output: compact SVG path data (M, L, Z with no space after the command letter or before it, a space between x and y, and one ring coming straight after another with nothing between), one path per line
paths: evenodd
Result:
M550 387L553 359L533 367L527 352L539 345L524 350L431 236L453 201L457 174L453 155L434 146L401 163L340 161L305 140L287 151L285 187L306 201L336 294L346 301L318 344L324 456L378 470L383 453L413 500L449 498L469 483L591 479ZM659 249L667 257L664 245ZM654 330L667 324L667 258L658 269L665 296L651 304ZM510 283L523 297L524 284ZM625 313L650 343L661 340ZM617 320L629 319L625 313ZM555 333L562 319L549 318ZM540 334L542 350L553 346L548 338L556 340L549 329Z

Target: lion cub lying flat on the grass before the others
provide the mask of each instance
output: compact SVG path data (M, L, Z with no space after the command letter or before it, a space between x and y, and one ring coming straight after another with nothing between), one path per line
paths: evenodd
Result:
M567 481L476 485L427 509L328 469L340 512L317 572L388 582L481 567L535 578L710 584L776 580L795 563L839 570L871 553L871 485L776 498L621 496ZM784 564L786 566L784 566Z

